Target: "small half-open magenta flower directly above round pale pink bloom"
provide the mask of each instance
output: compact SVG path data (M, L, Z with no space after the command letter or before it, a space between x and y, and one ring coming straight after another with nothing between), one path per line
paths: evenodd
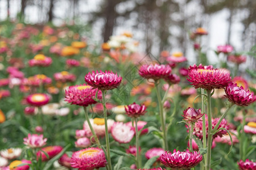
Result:
M135 102L133 104L125 106L126 115L129 117L139 117L146 113L146 106L144 104L139 105Z

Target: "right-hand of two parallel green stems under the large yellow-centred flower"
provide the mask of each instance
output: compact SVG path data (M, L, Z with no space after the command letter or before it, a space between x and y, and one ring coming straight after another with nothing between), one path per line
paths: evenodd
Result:
M207 90L207 113L208 113L208 140L207 140L207 164L205 169L210 170L210 156L212 154L212 112L210 104L210 91Z

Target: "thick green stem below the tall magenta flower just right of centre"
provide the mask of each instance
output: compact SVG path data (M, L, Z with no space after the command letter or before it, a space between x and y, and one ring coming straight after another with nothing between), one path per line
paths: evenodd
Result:
M155 82L155 89L156 89L156 96L158 97L158 104L159 104L159 114L160 114L160 121L161 121L161 126L162 126L162 131L163 131L163 148L164 150L168 150L168 145L167 145L167 138L166 138L166 125L165 125L165 120L163 116L163 104L162 104L162 99L160 97L160 86L159 82Z

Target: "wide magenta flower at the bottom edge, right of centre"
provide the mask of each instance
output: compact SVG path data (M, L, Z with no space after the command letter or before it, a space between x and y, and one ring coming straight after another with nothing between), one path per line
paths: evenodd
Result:
M180 152L179 150L176 152L169 152L166 151L163 155L160 156L160 162L164 164L164 166L169 168L176 168L176 169L191 169L199 164L203 160L203 156L194 151L189 152L187 151Z

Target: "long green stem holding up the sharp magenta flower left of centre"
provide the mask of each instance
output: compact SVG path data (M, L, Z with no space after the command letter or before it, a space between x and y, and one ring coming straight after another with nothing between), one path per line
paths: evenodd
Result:
M105 120L105 137L106 137L106 156L108 159L108 166L109 170L112 170L112 164L111 164L111 158L110 158L110 145L109 145L109 130L108 130L108 118L106 113L106 100L105 100L105 94L106 90L102 91L102 100L103 100L103 108L104 108L104 120Z

